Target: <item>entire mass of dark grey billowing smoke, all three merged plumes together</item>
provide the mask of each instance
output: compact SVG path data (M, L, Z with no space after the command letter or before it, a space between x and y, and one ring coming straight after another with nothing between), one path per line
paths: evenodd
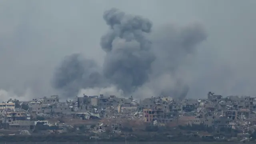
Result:
M206 39L199 24L163 26L152 31L152 22L112 8L103 14L108 32L100 45L106 52L101 68L77 54L68 56L54 75L54 88L65 96L83 92L134 97L186 97L189 62ZM114 87L113 87L114 86Z

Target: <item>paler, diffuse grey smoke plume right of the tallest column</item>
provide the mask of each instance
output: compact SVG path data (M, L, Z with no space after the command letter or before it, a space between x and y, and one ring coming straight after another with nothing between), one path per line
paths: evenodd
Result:
M152 34L152 51L156 60L152 64L152 83L158 94L183 99L189 90L192 77L190 62L196 56L197 46L207 34L200 24L186 27L162 26Z

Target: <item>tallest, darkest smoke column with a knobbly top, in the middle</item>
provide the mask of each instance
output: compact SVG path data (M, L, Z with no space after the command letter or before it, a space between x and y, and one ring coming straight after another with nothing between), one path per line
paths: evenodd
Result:
M145 36L151 32L152 23L116 8L104 12L103 18L110 27L100 42L106 52L103 74L124 94L131 94L147 82L155 59Z

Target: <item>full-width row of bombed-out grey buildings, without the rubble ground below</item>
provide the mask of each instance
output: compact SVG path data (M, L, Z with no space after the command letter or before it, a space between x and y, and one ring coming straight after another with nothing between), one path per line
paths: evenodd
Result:
M48 119L71 116L84 121L125 118L145 124L204 125L217 130L229 127L245 131L252 129L251 121L256 119L256 98L224 98L209 92L205 99L152 97L138 102L132 96L118 98L101 94L84 95L66 102L61 102L59 96L50 96L19 102L19 106L15 102L0 103L0 121L4 129L33 131L36 124L49 124L46 120L38 121L38 116Z

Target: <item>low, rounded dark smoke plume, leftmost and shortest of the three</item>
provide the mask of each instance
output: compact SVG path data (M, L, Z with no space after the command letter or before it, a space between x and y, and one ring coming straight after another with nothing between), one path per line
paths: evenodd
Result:
M82 88L99 87L104 84L100 69L94 60L80 54L66 56L56 68L52 85L64 97L74 97Z

